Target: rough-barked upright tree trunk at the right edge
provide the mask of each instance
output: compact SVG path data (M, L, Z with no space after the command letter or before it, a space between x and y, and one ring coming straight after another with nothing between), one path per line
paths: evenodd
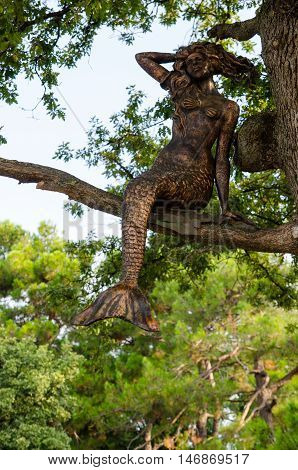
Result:
M262 57L276 106L277 155L298 207L298 18L294 0L269 0L259 18Z

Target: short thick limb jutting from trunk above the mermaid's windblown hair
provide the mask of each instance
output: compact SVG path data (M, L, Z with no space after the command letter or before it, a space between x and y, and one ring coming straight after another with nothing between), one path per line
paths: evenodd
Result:
M218 24L208 31L210 38L233 38L238 41L247 41L259 33L258 17L233 24Z

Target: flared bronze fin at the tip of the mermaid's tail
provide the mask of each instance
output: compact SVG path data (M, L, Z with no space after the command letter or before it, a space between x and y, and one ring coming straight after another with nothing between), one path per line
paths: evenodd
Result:
M86 310L76 315L74 325L88 326L105 318L122 318L146 331L159 331L149 302L138 287L117 284L102 292Z

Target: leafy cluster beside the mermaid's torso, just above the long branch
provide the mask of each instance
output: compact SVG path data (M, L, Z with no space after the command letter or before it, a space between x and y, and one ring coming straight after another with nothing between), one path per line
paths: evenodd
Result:
M144 98L143 92L134 86L128 87L126 108L110 118L113 132L94 117L90 122L87 147L75 152L69 143L64 143L58 148L55 158L65 162L72 158L82 159L89 167L104 162L105 176L114 181L119 181L119 178L129 181L148 169L170 134L166 125L159 125L158 129L155 126L163 124L173 110L168 98L158 101L154 107L143 109ZM150 129L153 127L155 132L152 133ZM113 188L113 192L119 193L118 188Z

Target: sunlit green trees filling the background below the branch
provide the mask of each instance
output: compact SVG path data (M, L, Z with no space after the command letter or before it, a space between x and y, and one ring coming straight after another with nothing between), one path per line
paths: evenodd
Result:
M158 338L121 320L65 329L70 312L81 308L73 290L65 303L69 287L94 295L118 275L117 240L108 247L91 239L64 244L45 224L29 235L7 222L0 224L0 234L3 448L62 449L69 437L73 448L144 448L148 429L151 445L162 449L295 448L295 378L275 393L273 434L258 416L237 431L256 390L256 359L275 384L295 366L298 331L297 311L276 306L274 282L262 270L255 277L247 257L209 255L208 267L192 276L182 258L172 257L167 275L162 275L163 257L160 271L149 261L143 282L161 323ZM106 255L100 264L98 252ZM281 282L286 265L275 266L270 257L254 261L272 265ZM292 283L294 292L293 280L282 282L289 282L288 292ZM32 292L38 292L38 302ZM237 354L229 357L236 347ZM214 368L211 377L208 367ZM198 422L204 413L210 416L203 436Z

